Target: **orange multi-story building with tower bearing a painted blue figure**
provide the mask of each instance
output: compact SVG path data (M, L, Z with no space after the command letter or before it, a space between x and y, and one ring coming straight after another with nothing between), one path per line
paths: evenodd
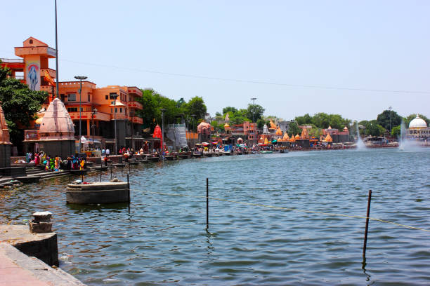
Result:
M15 55L22 59L1 59L1 66L11 69L11 76L27 83L30 89L46 91L47 107L56 94L53 79L57 73L48 67L48 59L56 57L55 49L30 37L22 47L15 48ZM137 99L142 97L141 90L136 86L98 88L91 81L82 81L82 90L80 87L79 81L62 81L58 85L60 100L74 123L75 138L79 140L80 134L90 142L100 142L103 148L114 149L116 126L117 148L140 149L143 119L138 111L143 106ZM37 135L32 139L37 140Z

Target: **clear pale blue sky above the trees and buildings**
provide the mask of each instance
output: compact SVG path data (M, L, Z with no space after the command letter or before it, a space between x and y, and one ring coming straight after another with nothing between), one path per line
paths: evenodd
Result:
M0 57L55 48L54 0L2 1ZM430 1L58 0L58 76L285 120L430 116ZM50 61L55 69L55 60Z

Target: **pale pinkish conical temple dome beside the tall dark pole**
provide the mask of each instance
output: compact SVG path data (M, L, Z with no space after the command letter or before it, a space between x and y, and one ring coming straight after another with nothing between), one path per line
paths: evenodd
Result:
M41 120L40 139L74 140L74 126L63 102L53 100Z

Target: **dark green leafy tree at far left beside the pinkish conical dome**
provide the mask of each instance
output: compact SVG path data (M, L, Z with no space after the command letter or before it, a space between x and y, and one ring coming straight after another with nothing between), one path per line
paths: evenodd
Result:
M30 90L25 83L8 78L8 72L7 68L0 67L0 102L11 142L16 147L21 147L24 129L30 126L30 121L34 120L34 115L41 109L48 93Z

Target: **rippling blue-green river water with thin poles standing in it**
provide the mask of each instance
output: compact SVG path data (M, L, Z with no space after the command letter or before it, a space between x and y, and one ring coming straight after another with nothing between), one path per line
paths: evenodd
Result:
M233 203L365 216L372 189L371 217L430 229L430 149L423 150L138 165L130 212L124 204L66 205L73 178L51 179L0 191L0 222L53 212L60 267L87 285L429 285L429 232L370 221L363 269L365 219ZM205 196L206 177L210 196L230 200L209 200L209 232L205 198L194 197Z

